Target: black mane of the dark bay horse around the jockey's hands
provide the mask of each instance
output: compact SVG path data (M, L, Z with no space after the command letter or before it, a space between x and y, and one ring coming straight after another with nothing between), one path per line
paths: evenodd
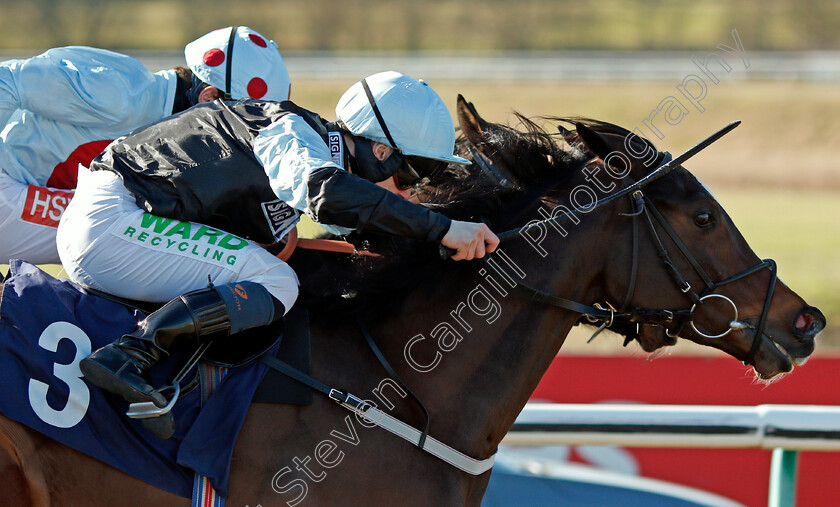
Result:
M467 158L480 148L490 158L504 161L512 184L500 186L484 171L451 165L438 180L420 189L424 206L455 220L484 221L495 232L518 225L521 214L552 191L563 188L592 158L561 123L584 123L596 131L626 135L616 125L586 118L542 117L541 123L515 115L518 125L483 125L481 146L464 136L456 151ZM573 131L571 131L573 133ZM314 313L342 314L370 311L384 314L402 296L423 283L435 283L463 262L442 261L438 245L426 241L353 233L346 238L357 248L381 257L298 252L290 263L301 277L301 303Z

